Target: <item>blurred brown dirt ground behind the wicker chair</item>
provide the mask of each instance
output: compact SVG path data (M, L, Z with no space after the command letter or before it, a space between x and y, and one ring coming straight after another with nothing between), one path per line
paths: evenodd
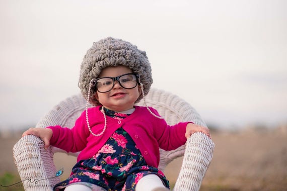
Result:
M12 148L20 134L2 135L0 142L0 176L17 174ZM241 132L213 132L216 144L212 162L200 190L287 190L287 129L249 129ZM76 162L73 156L54 155L57 168L63 168L62 179ZM174 184L182 157L170 163L165 174ZM18 174L16 175L18 176ZM1 182L0 182L1 183ZM5 190L5 188L0 188Z

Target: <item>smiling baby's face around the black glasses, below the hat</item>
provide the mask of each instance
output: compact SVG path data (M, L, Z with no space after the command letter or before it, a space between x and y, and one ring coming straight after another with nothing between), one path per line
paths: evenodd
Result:
M126 66L109 66L102 69L99 78L116 77L127 73L133 72ZM126 89L115 80L114 86L110 91L104 93L97 91L95 97L105 108L121 112L133 108L135 101L140 96L140 92L140 86L138 84L131 89Z

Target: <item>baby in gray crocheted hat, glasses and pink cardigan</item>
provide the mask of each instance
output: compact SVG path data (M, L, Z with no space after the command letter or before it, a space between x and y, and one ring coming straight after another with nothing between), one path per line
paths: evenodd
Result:
M87 103L71 129L60 126L30 128L45 144L67 152L81 151L71 175L54 190L169 190L158 169L159 148L173 150L187 138L208 128L192 122L170 126L151 107L135 106L153 83L145 51L108 37L85 55L79 87Z

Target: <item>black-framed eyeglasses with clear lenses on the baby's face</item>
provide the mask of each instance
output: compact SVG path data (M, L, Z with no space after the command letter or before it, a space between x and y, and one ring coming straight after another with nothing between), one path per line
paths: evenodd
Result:
M135 73L126 73L116 77L100 77L93 81L94 88L101 93L110 91L114 85L115 80L117 80L125 89L132 89L138 83L138 74Z

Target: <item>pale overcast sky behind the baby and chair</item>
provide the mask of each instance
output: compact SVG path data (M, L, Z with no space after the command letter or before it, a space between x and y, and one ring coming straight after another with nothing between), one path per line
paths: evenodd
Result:
M80 64L112 36L145 50L153 87L208 124L287 123L287 1L0 0L0 128L28 128L80 92Z

